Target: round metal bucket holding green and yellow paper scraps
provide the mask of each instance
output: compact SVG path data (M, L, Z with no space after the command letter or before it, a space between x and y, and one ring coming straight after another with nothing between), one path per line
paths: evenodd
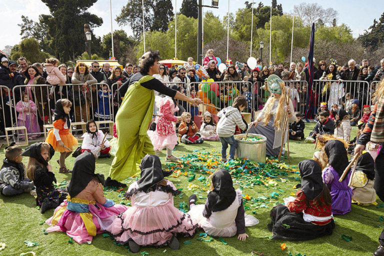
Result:
M236 134L236 157L247 158L249 160L265 163L266 157L266 137L261 134L248 133L249 137L259 136L262 139L257 141L241 140L245 137L245 134Z

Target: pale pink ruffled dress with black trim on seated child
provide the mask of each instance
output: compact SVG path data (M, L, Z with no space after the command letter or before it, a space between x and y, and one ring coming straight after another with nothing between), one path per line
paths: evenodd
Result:
M141 246L161 247L167 245L175 234L192 236L197 229L189 214L173 206L173 194L177 193L173 183L156 185L147 193L138 190L133 182L126 195L131 196L132 207L119 214L107 231L120 244L133 240Z

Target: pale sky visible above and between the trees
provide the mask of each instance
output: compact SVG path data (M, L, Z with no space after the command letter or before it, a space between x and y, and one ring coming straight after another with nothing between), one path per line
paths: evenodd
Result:
M172 0L173 4L176 1L177 10L181 7L182 0ZM248 0L251 1L251 0ZM255 7L260 0L255 0ZM297 0L277 0L277 3L282 4L283 12L291 13L293 4L302 1ZM129 26L118 26L114 18L119 14L120 9L128 1L127 0L112 0L112 26L115 29L124 29L128 35L132 35L132 30ZM245 0L229 0L229 11L235 13L238 8L245 7ZM261 0L264 5L270 5L270 0ZM338 11L337 23L347 24L353 36L357 37L364 32L372 23L373 19L378 19L384 10L384 1L375 1L374 4L364 4L361 0L305 0L305 2L317 2L324 9L331 7ZM203 4L210 5L211 0L203 0ZM20 27L21 15L26 15L30 19L38 20L39 14L49 14L48 7L41 0L0 0L1 6L1 33L0 33L0 49L5 45L14 45L21 40ZM218 9L203 8L203 11L211 10L213 14L222 18L228 11L228 0L219 0ZM109 0L97 0L93 6L89 8L89 12L98 15L103 19L103 24L100 27L94 28L93 33L97 36L102 36L110 32L110 11Z

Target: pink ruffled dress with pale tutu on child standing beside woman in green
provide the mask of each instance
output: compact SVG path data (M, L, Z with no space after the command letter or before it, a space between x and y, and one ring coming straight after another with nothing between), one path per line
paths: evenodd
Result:
M177 144L177 135L173 123L177 121L177 117L173 113L178 111L178 107L174 105L172 98L168 96L156 96L155 102L160 116L155 119L156 130L148 130L147 134L152 141L154 150L160 151L165 147L172 150Z

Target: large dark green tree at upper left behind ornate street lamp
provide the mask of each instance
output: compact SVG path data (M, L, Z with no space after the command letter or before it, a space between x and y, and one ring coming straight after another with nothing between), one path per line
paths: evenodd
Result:
M74 59L84 49L83 24L90 27L102 24L102 19L87 9L96 0L41 0L48 6L50 15L40 15L40 22L47 27L51 38L49 47L54 55L65 61ZM92 48L97 49L97 40L92 36Z

